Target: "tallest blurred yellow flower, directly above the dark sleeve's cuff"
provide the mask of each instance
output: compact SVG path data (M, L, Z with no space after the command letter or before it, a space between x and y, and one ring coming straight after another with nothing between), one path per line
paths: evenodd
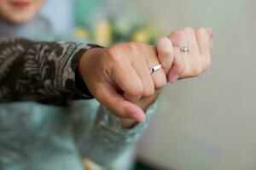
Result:
M112 41L112 28L108 20L100 20L96 24L95 42L102 46L108 46Z

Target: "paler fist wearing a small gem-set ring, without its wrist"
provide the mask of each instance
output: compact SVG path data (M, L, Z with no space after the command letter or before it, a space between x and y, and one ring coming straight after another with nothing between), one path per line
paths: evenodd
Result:
M177 79L197 77L207 71L211 65L210 48L212 48L212 29L198 28L196 30L187 27L173 31L168 38L172 41L174 60L172 69L168 73L169 82L176 82ZM166 54L166 38L162 38L157 45L159 61L169 69L164 61ZM170 43L170 42L169 42ZM189 47L189 52L183 53L180 48ZM166 65L166 66L165 66ZM167 71L166 70L166 71Z

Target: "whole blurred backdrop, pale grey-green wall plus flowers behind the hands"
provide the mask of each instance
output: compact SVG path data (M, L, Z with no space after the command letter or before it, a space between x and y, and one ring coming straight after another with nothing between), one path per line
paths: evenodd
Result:
M65 8L65 1L61 3ZM123 41L154 44L159 37L184 26L212 27L214 31L210 71L166 86L159 110L137 144L135 154L128 154L130 158L137 157L137 169L256 169L256 1L73 3L73 10L66 10L65 18L69 20L69 14L73 14L75 22L53 19L55 31L105 46ZM46 4L43 14L50 10L53 8ZM72 25L75 29L70 33ZM87 161L85 164L100 169L91 167ZM121 165L116 169L125 169L125 164Z

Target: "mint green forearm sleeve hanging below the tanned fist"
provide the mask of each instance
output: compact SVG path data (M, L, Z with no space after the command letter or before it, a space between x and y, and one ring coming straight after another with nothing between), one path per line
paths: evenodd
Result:
M135 127L120 127L119 118L100 105L95 99L76 102L73 105L74 135L80 154L101 166L108 166L125 150L136 144L148 126L156 110L157 101L148 108L146 122L137 123Z

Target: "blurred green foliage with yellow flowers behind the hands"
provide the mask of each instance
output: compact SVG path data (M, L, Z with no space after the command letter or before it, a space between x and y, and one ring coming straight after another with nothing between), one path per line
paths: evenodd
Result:
M160 37L157 28L138 19L136 14L109 16L102 0L75 0L73 11L77 26L75 36L102 46L130 41L155 44Z

